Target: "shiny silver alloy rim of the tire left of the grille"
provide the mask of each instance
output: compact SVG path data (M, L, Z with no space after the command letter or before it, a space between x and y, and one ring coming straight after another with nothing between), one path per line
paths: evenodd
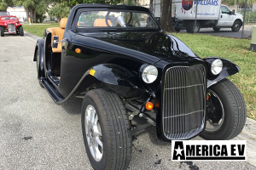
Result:
M102 128L96 109L88 105L85 109L85 133L91 156L95 161L101 161L103 155Z

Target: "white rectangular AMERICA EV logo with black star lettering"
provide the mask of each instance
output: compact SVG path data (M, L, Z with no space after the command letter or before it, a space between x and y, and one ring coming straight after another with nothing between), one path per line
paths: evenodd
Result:
M246 140L172 140L172 161L246 161Z

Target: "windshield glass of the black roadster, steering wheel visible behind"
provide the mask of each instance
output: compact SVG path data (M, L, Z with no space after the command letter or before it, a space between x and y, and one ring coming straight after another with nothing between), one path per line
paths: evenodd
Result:
M108 20L108 21L107 21ZM116 28L158 28L152 17L143 12L133 11L86 11L79 15L79 28L116 27Z

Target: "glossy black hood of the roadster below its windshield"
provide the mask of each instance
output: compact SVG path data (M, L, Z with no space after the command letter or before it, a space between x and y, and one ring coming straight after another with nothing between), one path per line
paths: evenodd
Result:
M177 37L160 32L94 32L81 33L73 42L100 48L104 51L128 55L154 64L161 59L200 59Z

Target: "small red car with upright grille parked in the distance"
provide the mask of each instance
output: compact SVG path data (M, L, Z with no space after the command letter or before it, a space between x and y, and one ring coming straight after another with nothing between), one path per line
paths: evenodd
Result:
M19 34L24 36L24 31L20 21L12 15L3 15L0 16L0 34L1 37L4 37L4 32L9 34Z

